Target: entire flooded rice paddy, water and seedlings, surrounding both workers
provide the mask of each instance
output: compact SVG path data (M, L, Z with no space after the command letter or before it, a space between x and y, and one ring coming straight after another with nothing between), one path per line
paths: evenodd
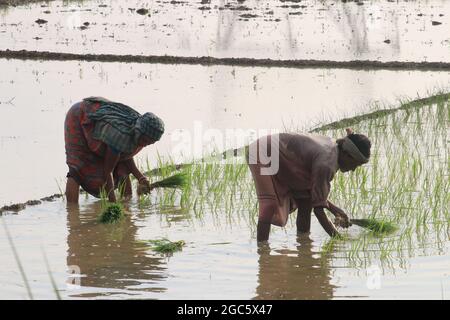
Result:
M0 6L0 50L450 62L449 9L444 0L25 1ZM400 107L319 129L338 138L351 123L371 138L369 164L338 173L330 199L353 218L395 223L392 234L353 226L330 239L313 218L297 236L294 213L258 246L243 159L194 162L181 169L186 188L126 202L117 224L99 223L100 201L85 195L79 206L55 198L0 212L0 298L449 299L450 108L448 94L435 95L448 92L448 71L45 59L0 59L0 70L0 207L61 192L63 119L83 97L163 118L163 139L137 157L163 176L173 162L244 144L227 130L307 131ZM181 150L184 133L203 148ZM147 242L158 238L186 245L161 254Z

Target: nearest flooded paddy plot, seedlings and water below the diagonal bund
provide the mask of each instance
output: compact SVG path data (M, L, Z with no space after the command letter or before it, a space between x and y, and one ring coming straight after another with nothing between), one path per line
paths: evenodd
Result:
M286 228L273 228L268 245L257 246L255 192L239 157L184 167L186 189L126 203L128 216L115 225L97 222L100 204L89 197L79 207L60 200L29 206L2 221L34 298L55 297L45 251L65 299L448 299L449 121L445 95L355 124L376 151L347 179L338 174L331 199L353 217L394 221L399 230L389 235L353 226L345 240L330 240L313 219L311 234L297 237L294 213ZM163 176L175 170L162 167ZM0 235L2 295L27 298ZM186 246L167 256L145 243L162 237Z

